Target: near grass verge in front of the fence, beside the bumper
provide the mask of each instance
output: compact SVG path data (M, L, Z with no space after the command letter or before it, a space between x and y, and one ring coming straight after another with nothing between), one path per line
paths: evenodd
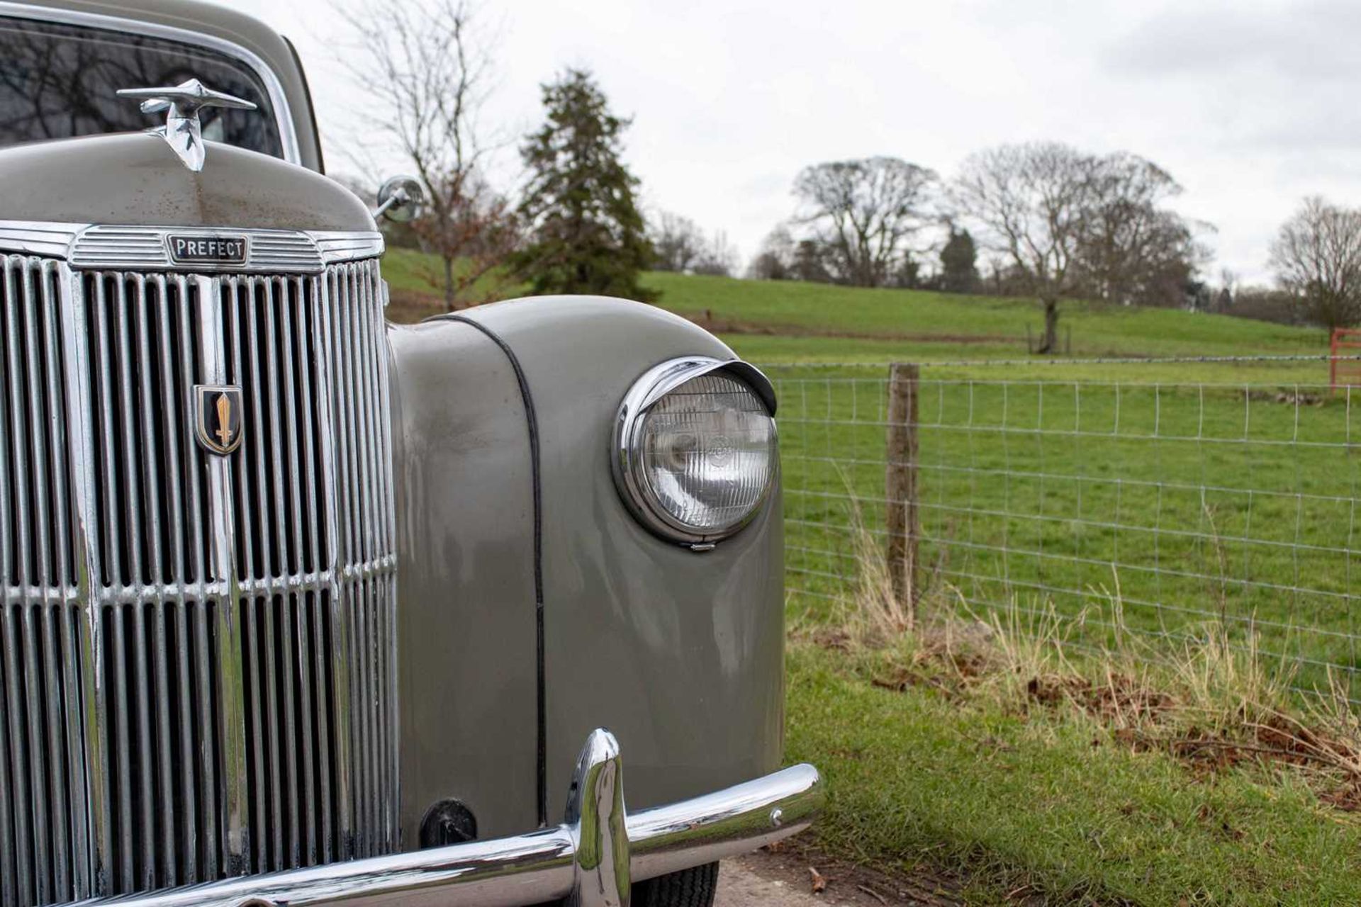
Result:
M836 853L1006 880L969 903L1003 903L1019 885L1045 903L1361 899L1356 819L1289 775L1196 776L1082 715L879 689L810 646L788 665L788 756L827 778L817 834Z

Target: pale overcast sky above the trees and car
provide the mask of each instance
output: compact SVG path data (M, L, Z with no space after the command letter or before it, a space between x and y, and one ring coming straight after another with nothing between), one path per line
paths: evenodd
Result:
M325 0L235 0L298 45L328 165L355 90ZM949 177L969 151L1056 139L1132 151L1217 228L1210 267L1267 280L1300 199L1361 204L1361 3L1179 0L485 0L499 83L485 121L513 140L539 83L595 71L632 116L651 209L724 230L743 262L819 160L893 155ZM514 147L502 174L517 173ZM393 170L400 170L393 162Z

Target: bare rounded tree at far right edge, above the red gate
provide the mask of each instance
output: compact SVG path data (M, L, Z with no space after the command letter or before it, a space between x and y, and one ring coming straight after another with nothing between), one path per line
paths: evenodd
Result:
M1330 330L1361 320L1361 211L1304 200L1271 243L1271 269L1309 321Z

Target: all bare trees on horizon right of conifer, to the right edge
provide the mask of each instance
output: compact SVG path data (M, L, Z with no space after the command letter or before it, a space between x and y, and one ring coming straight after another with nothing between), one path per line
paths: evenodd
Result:
M1038 298L1041 352L1056 341L1062 299L1361 322L1361 208L1304 199L1271 243L1274 287L1241 287L1228 269L1214 286L1202 242L1214 227L1168 208L1180 193L1145 158L1055 141L976 152L947 182L897 158L821 163L799 174L800 212L769 234L747 276Z

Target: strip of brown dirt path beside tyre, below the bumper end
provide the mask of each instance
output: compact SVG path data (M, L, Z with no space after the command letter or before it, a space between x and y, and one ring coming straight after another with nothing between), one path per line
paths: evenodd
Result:
M817 893L815 878L822 884ZM936 878L890 877L844 865L819 869L810 863L810 854L758 851L723 863L715 907L958 907L962 903Z

